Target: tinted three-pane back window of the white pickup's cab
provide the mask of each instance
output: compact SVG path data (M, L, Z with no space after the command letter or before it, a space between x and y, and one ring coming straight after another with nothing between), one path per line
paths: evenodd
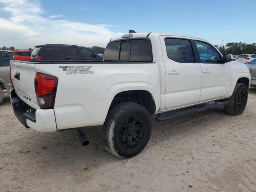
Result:
M148 38L124 39L108 43L105 61L152 62L152 47Z

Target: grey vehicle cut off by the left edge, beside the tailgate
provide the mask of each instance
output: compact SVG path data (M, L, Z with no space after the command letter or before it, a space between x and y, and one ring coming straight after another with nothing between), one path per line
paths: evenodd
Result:
M14 53L0 51L0 104L4 100L4 90L9 94L12 89L10 80L10 60L14 60Z

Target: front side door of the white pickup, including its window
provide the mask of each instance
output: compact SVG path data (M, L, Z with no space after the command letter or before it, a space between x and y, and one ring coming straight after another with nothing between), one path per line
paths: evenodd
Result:
M220 60L220 53L212 45L196 41L202 69L202 87L199 102L224 98L230 91L230 69Z

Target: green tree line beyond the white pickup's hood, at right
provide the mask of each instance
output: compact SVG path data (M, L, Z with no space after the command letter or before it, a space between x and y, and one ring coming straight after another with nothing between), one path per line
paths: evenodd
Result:
M227 43L226 46L215 45L222 54L256 54L256 43L247 44L242 42Z

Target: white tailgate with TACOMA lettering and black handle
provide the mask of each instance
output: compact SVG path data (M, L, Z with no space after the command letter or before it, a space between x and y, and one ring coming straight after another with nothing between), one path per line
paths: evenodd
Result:
M36 71L34 64L11 61L10 76L16 95L32 108L38 109L34 79Z

